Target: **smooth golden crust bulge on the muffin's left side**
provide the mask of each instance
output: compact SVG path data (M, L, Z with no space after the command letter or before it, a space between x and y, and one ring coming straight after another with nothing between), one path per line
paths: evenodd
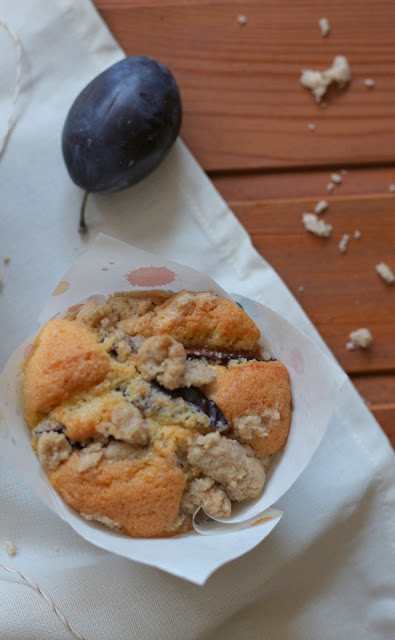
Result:
M89 330L68 320L50 320L38 334L24 367L29 426L34 427L74 391L101 382L109 368L108 355Z

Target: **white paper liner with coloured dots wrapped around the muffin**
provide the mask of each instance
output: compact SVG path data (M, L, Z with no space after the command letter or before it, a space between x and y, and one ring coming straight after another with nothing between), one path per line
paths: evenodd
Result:
M205 274L100 235L65 274L39 317L39 324L91 297L115 291L163 289L213 290L230 297ZM0 378L0 454L30 489L83 538L138 562L203 584L217 568L246 553L269 535L282 512L272 505L306 468L321 442L346 375L295 327L267 307L232 296L259 326L263 350L288 368L293 415L287 445L273 457L262 495L234 504L231 518L214 519L200 511L195 531L173 538L135 539L84 520L50 486L30 448L21 397L21 364L33 338L11 356Z

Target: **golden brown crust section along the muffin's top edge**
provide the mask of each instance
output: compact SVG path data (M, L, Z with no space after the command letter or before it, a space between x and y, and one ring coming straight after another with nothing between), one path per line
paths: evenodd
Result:
M124 320L130 335L167 334L186 347L205 345L216 349L256 349L260 332L251 318L232 300L216 295L180 291L138 318Z

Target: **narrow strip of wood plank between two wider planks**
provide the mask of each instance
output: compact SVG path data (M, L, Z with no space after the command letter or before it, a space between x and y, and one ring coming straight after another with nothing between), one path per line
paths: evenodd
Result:
M343 167L337 167L340 170ZM210 178L225 200L284 200L285 198L327 199L326 186L333 170L275 171L255 173L211 173ZM388 195L395 184L395 167L348 168L335 194ZM395 194L394 205L395 205Z

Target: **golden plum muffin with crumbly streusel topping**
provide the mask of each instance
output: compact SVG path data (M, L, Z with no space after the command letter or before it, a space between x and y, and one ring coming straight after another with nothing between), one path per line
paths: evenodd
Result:
M79 513L133 537L172 536L202 506L260 495L287 440L286 368L212 292L116 293L40 331L24 366L32 447Z

